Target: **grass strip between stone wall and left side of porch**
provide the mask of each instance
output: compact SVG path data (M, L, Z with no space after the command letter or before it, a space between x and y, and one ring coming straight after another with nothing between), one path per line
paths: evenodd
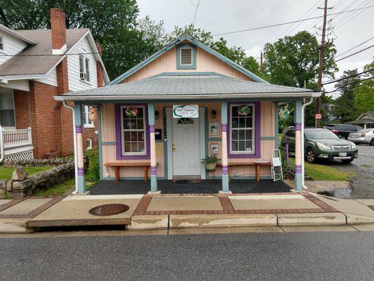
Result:
M90 188L91 185L98 181L98 166L99 166L99 150L86 150L86 155L88 157L89 167L87 173L84 175L86 179L86 189ZM72 178L65 183L59 185L54 185L47 190L38 190L35 196L54 196L54 195L64 195L64 193L75 185L75 180Z

